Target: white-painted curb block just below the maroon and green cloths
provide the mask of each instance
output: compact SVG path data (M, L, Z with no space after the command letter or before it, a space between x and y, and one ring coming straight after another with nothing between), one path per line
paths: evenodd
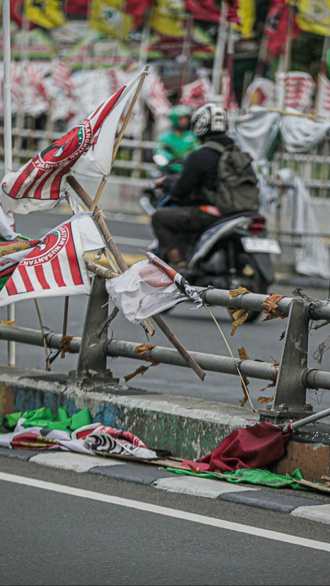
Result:
M194 476L180 477L179 475L177 478L160 478L156 480L154 486L168 493L181 493L210 499L216 499L219 495L228 493L259 490L259 488L237 486L236 484L230 484L230 482L219 482L219 480L211 480L210 478L196 478Z

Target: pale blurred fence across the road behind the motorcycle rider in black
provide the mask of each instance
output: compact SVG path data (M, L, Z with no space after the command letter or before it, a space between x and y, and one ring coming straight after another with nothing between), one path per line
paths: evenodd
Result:
M62 135L63 132L35 128L13 128L14 168L19 168L39 150ZM0 127L0 157L4 155L2 137L3 127ZM104 207L105 210L128 212L133 209L134 212L138 213L140 205L137 201L151 182L151 176L157 169L152 161L152 152L156 146L159 146L159 143L151 140L122 139L118 157L115 158L111 171L111 180L120 182L120 184L113 185L113 190L118 192L118 196L113 199L112 203L109 203L109 208ZM303 179L312 196L312 205L315 201L322 204L322 201L330 197L329 140L326 138L322 143L311 148L308 153L287 153L281 145L270 162L270 185L281 188L278 192L276 210L268 215L270 236L276 238L282 248L281 256L277 259L280 271L292 269L297 249L307 246L318 247L321 243L330 247L330 232L327 232L327 223L324 221L322 221L321 231L315 234L296 232L287 225L287 214L282 212L283 201L287 191L294 185L291 183L284 185L276 180L278 170L285 167L293 168L296 174ZM321 217L325 218L328 216L327 205L322 207L323 209L324 213L321 214Z

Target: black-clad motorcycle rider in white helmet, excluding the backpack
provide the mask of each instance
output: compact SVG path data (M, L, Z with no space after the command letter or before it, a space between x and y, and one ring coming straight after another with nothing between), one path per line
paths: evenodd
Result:
M223 146L232 144L226 134L228 117L217 104L199 106L192 114L191 128L201 142L212 140ZM198 237L221 215L217 207L209 205L208 191L214 191L220 153L203 147L186 157L179 177L161 177L155 183L170 192L172 201L179 207L162 207L152 216L152 225L159 240L162 258L182 268L186 262L179 250L179 234L195 233Z

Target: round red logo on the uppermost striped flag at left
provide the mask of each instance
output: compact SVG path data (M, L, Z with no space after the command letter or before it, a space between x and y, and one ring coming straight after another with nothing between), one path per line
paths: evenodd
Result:
M36 155L34 164L39 169L47 170L69 161L73 163L85 152L90 140L91 125L89 120L84 120L82 124L72 128L71 131Z

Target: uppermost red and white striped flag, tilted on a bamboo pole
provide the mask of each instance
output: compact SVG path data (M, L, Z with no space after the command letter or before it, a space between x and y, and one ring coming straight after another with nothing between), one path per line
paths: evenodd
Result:
M7 173L1 183L3 210L18 214L49 210L64 193L63 179L69 172L77 171L89 177L109 174L120 115L139 79L140 76L116 91L88 118L18 171Z

